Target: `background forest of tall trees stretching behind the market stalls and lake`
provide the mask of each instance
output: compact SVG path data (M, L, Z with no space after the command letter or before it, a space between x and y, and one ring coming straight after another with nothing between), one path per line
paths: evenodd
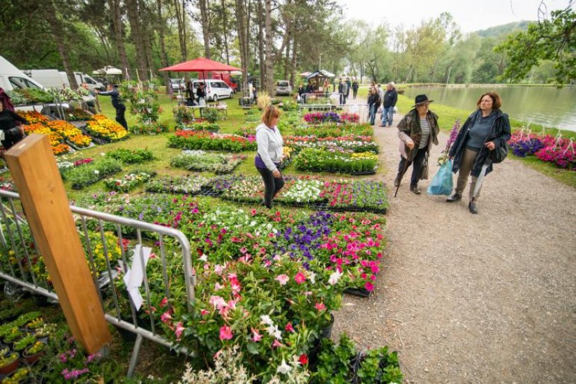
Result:
M318 66L362 81L494 83L509 65L494 47L528 26L461 34L443 13L392 29L348 21L331 0L15 0L0 9L0 54L21 69L112 65L142 80L168 80L158 68L202 56L244 68L267 89ZM515 80L552 82L554 62L538 64Z

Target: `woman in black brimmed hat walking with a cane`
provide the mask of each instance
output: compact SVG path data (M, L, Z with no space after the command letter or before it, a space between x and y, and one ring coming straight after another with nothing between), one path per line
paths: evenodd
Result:
M432 100L426 95L416 96L413 109L398 123L400 163L394 186L399 186L404 173L413 164L410 190L420 195L418 181L422 178L422 165L432 144L438 145L438 115L428 109Z

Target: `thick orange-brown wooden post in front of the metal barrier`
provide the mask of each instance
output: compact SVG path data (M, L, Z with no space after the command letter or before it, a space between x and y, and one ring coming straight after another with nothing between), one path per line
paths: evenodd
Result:
M68 326L88 353L112 338L78 237L47 135L33 134L4 156Z

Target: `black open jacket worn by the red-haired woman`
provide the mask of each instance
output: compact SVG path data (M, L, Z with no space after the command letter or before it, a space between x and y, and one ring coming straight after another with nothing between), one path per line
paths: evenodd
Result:
M482 111L480 109L475 110L475 112L468 116L464 126L462 126L458 133L456 141L450 148L448 156L454 157L452 159L452 172L454 173L458 172L460 169L462 157L464 157L464 151L466 150L466 142L468 142L468 139L470 138L470 128L474 126L476 119L481 116ZM502 147L505 142L508 142L508 140L510 140L510 120L508 120L508 115L503 113L501 110L496 110L494 123L492 123L492 127L484 139L484 142L487 143L493 141L495 145L494 150L496 150L497 148ZM472 172L470 172L472 176L478 177L478 175L480 175L482 165L484 165L484 163L487 161L490 161L489 154L490 150L482 145L482 148L480 148L480 151L476 156L476 160L474 161ZM490 172L492 172L492 163L489 164L486 170L486 175L488 175Z

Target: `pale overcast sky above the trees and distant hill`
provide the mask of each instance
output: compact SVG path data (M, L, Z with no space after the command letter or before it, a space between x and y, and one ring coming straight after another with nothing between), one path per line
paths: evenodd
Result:
M538 20L541 0L337 0L348 19L369 24L387 22L391 27L419 25L420 21L449 12L468 33L522 20ZM568 0L545 0L548 13L566 8Z

